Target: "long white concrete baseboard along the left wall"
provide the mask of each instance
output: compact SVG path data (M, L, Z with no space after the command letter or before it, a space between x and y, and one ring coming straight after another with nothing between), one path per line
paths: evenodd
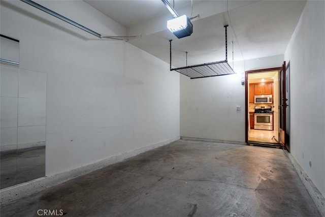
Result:
M14 200L30 196L32 194L36 194L40 191L43 191L45 189L54 187L55 185L61 184L63 182L69 181L71 179L74 179L76 177L85 175L89 172L92 172L94 170L98 170L101 168L104 168L106 166L109 166L114 163L121 162L127 158L134 157L140 153L143 153L145 151L167 145L171 142L174 142L176 140L179 140L180 137L176 137L173 139L169 139L163 142L158 142L152 145L148 145L139 149L135 149L132 151L128 151L122 154L119 154L117 156L112 156L108 159L93 163L93 164L88 164L83 167L62 172L59 174L51 175L51 176L45 176L42 178L34 179L28 182L24 182L21 184L14 185L12 187L2 189L0 190L0 195L1 195L1 204L6 204L9 202L12 202Z

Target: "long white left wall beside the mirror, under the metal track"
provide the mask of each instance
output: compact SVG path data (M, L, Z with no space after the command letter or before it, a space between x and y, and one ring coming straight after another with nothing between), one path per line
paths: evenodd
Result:
M41 2L103 35L125 28L82 1ZM179 137L179 75L123 41L100 40L20 1L1 1L20 68L47 73L46 175Z

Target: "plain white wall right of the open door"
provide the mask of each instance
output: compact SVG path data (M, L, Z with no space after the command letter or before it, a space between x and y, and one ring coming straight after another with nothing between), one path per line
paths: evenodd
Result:
M308 1L285 51L291 154L325 196L325 2Z

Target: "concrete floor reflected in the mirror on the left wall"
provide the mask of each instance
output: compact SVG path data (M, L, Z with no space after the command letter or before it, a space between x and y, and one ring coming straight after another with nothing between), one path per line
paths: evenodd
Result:
M0 161L1 189L45 176L45 146L3 151Z

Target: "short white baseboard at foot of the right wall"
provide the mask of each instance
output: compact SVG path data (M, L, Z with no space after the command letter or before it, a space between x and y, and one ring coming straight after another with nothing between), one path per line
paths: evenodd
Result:
M320 214L325 217L325 198L319 192L317 187L314 185L312 180L309 178L307 173L303 170L303 168L298 164L296 159L290 154L288 151L284 150L284 153L288 156L291 163L294 165L300 179L302 180L303 184L305 185L309 195L313 199L315 205L317 206Z

